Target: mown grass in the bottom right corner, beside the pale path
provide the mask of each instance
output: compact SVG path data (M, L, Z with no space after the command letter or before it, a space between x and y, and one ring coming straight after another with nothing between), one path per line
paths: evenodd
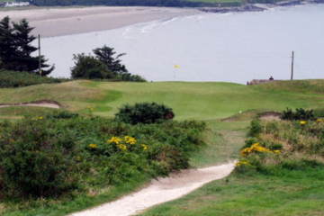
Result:
M287 175L231 175L141 216L321 216L323 167Z

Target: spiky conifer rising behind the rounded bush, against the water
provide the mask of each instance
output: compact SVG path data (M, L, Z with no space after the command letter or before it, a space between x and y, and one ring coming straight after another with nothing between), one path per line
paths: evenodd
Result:
M126 55L125 53L118 54L116 57L114 55L116 54L115 51L113 51L113 48L103 46L103 48L97 48L94 49L94 55L95 57L103 62L109 70L112 71L112 73L116 76L118 74L127 73L128 70L124 65L121 64L121 57Z

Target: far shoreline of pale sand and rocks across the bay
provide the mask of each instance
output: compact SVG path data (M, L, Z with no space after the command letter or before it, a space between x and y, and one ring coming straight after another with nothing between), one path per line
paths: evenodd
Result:
M8 15L14 22L26 18L34 35L58 37L94 31L119 29L137 23L195 14L226 14L263 12L275 7L303 4L324 4L324 0L288 0L275 4L245 4L238 7L146 7L146 6L71 6L32 7L30 9L0 10L0 18Z

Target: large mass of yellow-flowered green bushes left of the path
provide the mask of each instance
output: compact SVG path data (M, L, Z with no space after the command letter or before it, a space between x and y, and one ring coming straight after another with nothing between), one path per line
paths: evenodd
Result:
M130 125L70 112L0 123L0 197L49 197L189 166L205 125Z

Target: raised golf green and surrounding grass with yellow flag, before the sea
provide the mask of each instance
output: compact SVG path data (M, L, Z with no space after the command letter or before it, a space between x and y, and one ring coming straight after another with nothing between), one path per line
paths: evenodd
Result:
M251 109L282 111L286 107L316 108L324 104L323 94L313 94L308 88L291 91L281 83L273 87L232 83L73 81L0 89L0 103L44 99L58 101L72 112L87 113L91 106L93 114L104 117L112 117L125 103L157 102L172 107L176 120L202 121L226 118Z

